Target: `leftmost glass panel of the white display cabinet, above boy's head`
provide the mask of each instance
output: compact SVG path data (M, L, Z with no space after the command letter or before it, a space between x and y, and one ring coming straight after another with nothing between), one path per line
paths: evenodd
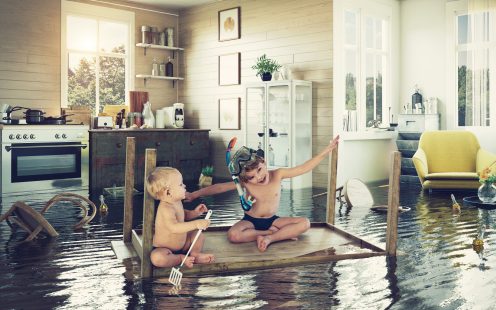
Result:
M265 86L246 88L246 124L246 146L266 151Z

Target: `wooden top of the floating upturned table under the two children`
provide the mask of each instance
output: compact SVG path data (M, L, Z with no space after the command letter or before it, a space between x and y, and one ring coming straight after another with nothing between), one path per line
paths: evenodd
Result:
M209 227L203 232L205 244L202 252L214 254L214 263L196 264L191 269L183 267L181 272L184 275L205 275L385 255L383 249L326 223L312 223L312 227L299 236L297 241L272 243L263 253L258 250L255 242L239 244L229 242L227 239L229 228L228 226ZM141 240L141 231L133 230L133 245L137 254L143 252ZM120 254L120 256L124 258L125 255ZM153 268L153 276L168 276L170 269Z

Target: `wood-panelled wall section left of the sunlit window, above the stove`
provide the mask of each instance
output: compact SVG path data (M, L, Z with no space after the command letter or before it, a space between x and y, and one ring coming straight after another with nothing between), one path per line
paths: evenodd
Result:
M0 104L59 115L60 0L0 1L0 29Z

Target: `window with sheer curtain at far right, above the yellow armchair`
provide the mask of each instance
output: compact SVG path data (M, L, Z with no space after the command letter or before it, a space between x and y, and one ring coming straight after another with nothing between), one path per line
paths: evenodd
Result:
M489 8L455 13L456 125L494 125L496 16ZM494 74L493 74L494 75Z

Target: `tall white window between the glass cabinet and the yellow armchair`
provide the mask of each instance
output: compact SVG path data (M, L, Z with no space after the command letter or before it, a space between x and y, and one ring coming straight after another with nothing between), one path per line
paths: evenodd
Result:
M362 131L376 121L389 123L391 9L379 11L375 6L370 1L335 2L338 131Z

